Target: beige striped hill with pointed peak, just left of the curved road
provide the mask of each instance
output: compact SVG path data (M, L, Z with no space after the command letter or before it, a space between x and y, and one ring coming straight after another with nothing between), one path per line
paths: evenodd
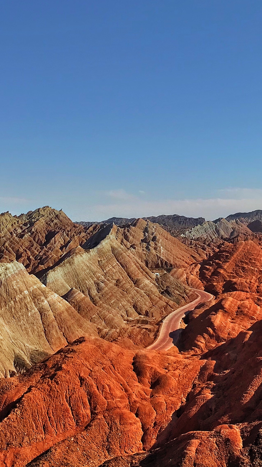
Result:
M136 245L140 248L139 242ZM187 286L168 274L156 278L117 226L104 227L84 246L91 249L72 250L41 281L95 323L100 337L128 339L125 345L145 347L154 339L159 320L193 297ZM181 250L189 248L181 244Z

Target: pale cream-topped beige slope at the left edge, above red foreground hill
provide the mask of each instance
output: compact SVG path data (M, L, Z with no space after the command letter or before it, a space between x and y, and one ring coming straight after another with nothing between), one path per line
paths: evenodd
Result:
M96 326L21 263L0 263L0 376L23 373Z

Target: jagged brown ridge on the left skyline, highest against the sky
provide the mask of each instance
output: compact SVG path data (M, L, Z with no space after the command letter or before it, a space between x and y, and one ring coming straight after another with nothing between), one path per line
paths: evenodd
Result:
M64 212L45 206L27 214L0 214L0 262L21 262L28 272L49 269L70 249L82 245L98 226L74 224Z

